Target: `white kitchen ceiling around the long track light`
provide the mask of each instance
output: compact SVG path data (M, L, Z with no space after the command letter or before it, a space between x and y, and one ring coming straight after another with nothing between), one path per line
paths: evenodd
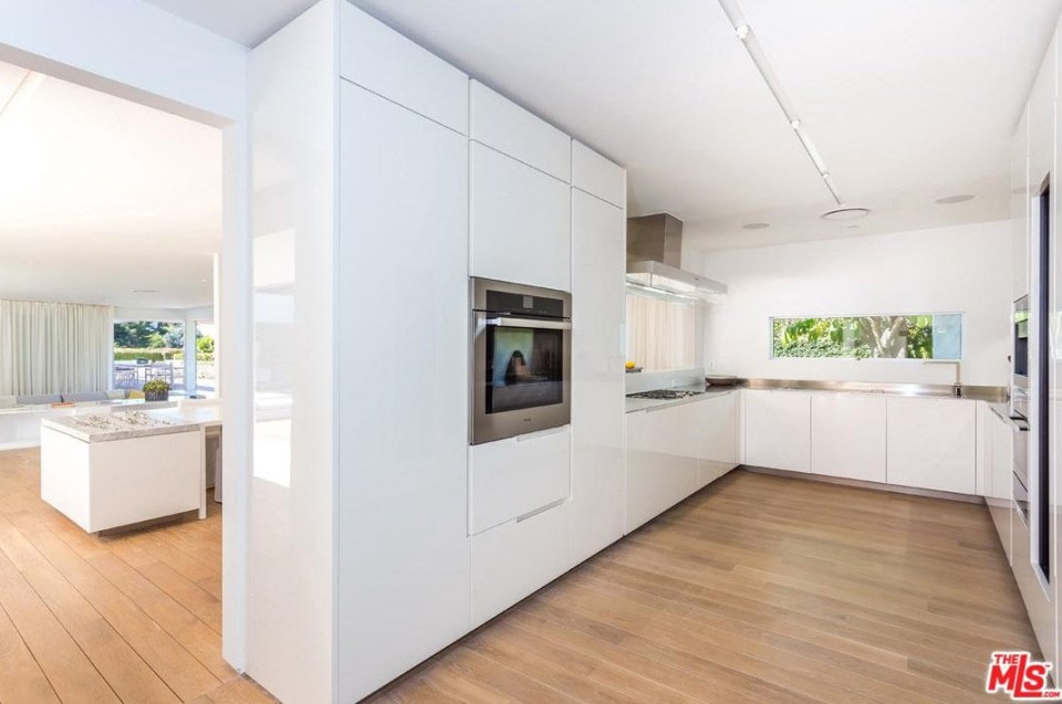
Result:
M150 0L248 45L309 0ZM705 249L1009 217L1008 143L1062 0L742 0L833 206L715 0L355 0L628 169ZM971 193L967 203L937 206ZM749 222L768 222L754 232Z

